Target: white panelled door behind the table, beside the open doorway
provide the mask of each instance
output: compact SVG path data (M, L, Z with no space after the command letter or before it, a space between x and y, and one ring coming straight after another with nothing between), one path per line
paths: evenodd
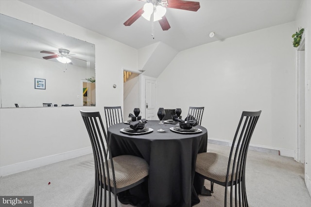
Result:
M145 79L145 114L147 120L155 120L155 92L156 81L152 79Z

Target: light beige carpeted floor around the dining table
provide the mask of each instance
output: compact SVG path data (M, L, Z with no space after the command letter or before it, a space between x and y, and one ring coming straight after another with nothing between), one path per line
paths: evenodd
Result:
M208 143L207 151L228 154L229 147ZM0 195L33 195L35 207L91 207L93 155L69 159L22 173L0 177ZM49 184L50 182L50 184ZM209 181L206 181L209 189ZM224 187L200 196L195 207L224 206ZM246 191L250 207L310 207L304 165L292 158L249 151ZM131 207L122 205L120 207Z

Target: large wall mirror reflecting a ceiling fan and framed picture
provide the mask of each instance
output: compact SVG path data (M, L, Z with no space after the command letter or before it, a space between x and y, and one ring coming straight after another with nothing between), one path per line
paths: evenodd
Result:
M1 108L95 106L94 44L0 14L0 49Z

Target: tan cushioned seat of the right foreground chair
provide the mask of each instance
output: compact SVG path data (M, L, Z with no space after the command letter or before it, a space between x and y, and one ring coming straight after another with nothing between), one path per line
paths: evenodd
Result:
M212 152L199 153L196 159L195 172L220 182L225 182L229 158ZM232 162L230 168L232 166ZM229 180L231 181L231 170ZM235 176L235 175L234 175Z

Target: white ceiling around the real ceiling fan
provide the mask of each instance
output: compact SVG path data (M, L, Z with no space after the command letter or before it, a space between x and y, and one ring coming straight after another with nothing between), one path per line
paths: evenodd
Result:
M143 17L129 27L123 25L143 7L143 1L20 1L133 48L160 41L178 51L294 21L301 3L301 0L196 0L201 5L197 12L168 8L166 17L171 29L162 31L155 22L153 39L152 24ZM215 32L213 38L209 37L210 32Z

